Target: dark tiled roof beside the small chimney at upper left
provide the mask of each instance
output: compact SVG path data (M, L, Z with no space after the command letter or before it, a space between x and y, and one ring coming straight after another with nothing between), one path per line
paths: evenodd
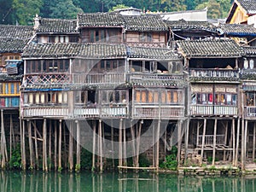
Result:
M77 20L40 19L37 32L78 32Z

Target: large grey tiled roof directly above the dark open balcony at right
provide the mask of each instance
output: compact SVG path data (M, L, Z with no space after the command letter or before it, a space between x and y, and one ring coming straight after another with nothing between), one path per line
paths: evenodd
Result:
M230 39L178 41L177 46L185 57L237 57L242 53L238 44Z

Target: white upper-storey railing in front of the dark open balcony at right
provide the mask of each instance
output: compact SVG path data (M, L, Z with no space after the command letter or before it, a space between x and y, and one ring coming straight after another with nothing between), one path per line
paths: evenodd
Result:
M239 71L234 69L201 69L193 68L189 70L189 76L192 78L239 78Z

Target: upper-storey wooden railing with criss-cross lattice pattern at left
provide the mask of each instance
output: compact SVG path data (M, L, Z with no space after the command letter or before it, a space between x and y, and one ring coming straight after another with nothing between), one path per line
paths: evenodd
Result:
M67 73L26 75L26 84L66 84L70 82Z

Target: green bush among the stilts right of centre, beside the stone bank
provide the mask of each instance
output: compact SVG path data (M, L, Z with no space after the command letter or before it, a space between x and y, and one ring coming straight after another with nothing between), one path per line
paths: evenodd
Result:
M166 160L160 164L161 168L177 170L177 147L173 146L171 154L166 155Z

